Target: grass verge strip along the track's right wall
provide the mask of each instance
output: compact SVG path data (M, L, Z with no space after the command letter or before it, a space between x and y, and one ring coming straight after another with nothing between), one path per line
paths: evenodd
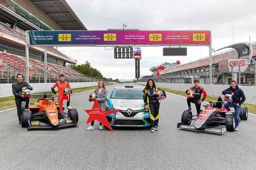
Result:
M185 92L177 91L174 89L163 89L163 90L165 90L165 92L171 92L176 95L186 96ZM217 101L217 97L207 96L206 101ZM246 106L250 113L256 114L256 105L255 104L243 103L243 106Z

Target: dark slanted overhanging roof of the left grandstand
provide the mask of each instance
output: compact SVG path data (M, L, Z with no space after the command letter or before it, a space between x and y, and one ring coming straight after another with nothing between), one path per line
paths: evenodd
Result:
M64 30L87 30L65 0L30 0Z

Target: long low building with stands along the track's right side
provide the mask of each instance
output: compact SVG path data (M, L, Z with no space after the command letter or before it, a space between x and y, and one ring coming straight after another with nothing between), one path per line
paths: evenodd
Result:
M249 61L248 67L244 72L241 72L240 84L243 85L255 85L255 71L256 64L254 60L256 59L256 42L252 42L252 60ZM240 51L241 53L246 53L246 51ZM224 52L218 52L213 55L212 58L212 72L213 72L213 83L214 84L229 84L232 80L232 72L222 72L220 69L220 62L227 61L229 59L237 59L238 54L235 50L227 49ZM192 61L187 64L181 64L174 67L163 67L158 66L157 68L162 68L157 70L156 67L151 67L152 72L151 78L157 82L166 83L180 83L180 84L191 84L193 80L200 79L201 84L209 84L209 57L203 58L197 61ZM164 66L162 64L162 66ZM233 74L238 74L234 72ZM234 78L234 77L233 77ZM147 77L143 77L140 81L146 81ZM234 78L239 82L239 78Z

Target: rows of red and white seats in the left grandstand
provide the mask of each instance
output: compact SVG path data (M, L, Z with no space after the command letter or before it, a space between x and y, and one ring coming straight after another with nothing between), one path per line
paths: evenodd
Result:
M7 24L3 24L0 22L0 33L4 33L8 36L11 36L14 39L19 41L25 41L25 32L24 30L20 30L18 27L16 29L11 28ZM62 54L58 50L53 47L43 47L43 49L53 52L56 55L61 55L64 58L68 58L66 55ZM43 61L38 61L30 58L30 77L32 78L42 78L45 71L45 63ZM0 79L4 78L7 75L12 75L13 72L23 72L25 71L26 64L25 58L19 55L13 55L7 52L0 51ZM10 74L4 74L4 72L12 72ZM82 75L80 72L76 72L69 67L62 67L56 64L47 63L47 75L48 77L56 80L59 74L65 74L68 78L76 80L87 81L85 75ZM15 76L15 75L14 75ZM1 81L1 80L0 80Z

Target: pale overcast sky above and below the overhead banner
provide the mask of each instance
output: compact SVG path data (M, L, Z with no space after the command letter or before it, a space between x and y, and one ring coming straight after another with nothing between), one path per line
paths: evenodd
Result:
M256 41L255 0L66 0L88 30L211 30L214 49ZM233 31L234 30L234 31ZM89 61L108 78L133 79L133 59L114 59L104 47L59 47L78 64ZM141 75L150 67L180 60L182 64L208 56L208 47L189 47L188 56L163 56L163 47L142 47Z

